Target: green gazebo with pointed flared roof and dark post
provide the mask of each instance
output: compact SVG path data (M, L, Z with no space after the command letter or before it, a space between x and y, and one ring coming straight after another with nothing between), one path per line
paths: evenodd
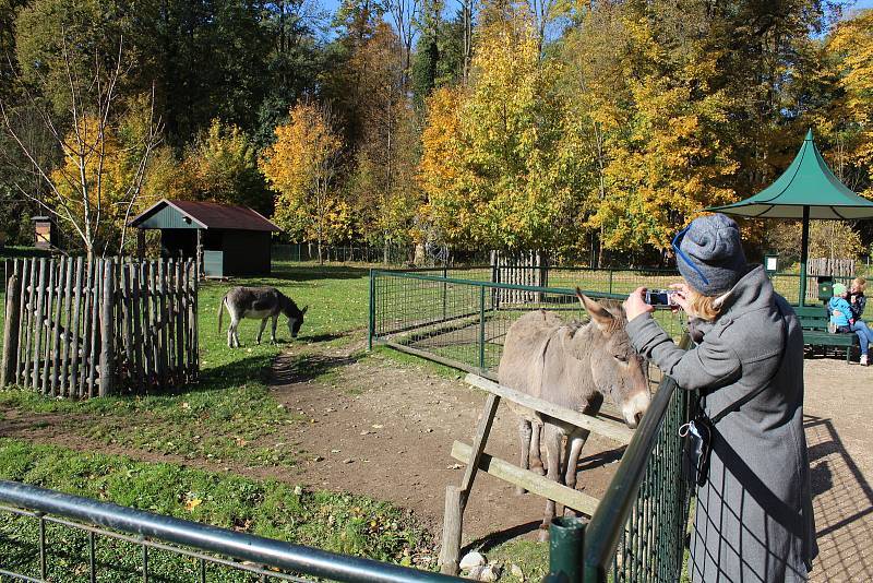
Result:
M806 132L794 160L774 183L744 201L707 211L750 218L802 218L803 238L800 255L800 295L803 306L806 290L806 257L810 246L810 219L842 221L873 217L873 202L849 190L827 167L822 153Z

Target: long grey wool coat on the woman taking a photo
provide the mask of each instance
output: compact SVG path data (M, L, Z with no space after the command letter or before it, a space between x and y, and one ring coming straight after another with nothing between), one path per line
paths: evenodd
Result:
M650 314L627 324L643 356L680 386L705 394L709 417L767 385L715 426L709 478L697 489L692 580L806 581L818 549L803 433L803 332L798 319L758 266L737 283L721 314L702 331L701 343L682 350Z

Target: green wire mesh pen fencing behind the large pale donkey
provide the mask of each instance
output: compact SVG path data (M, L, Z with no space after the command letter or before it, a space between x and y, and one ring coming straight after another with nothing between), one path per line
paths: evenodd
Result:
M562 279L567 287L492 282L493 275L491 267L372 270L369 346L384 344L494 380L503 338L517 318L537 309L562 312L565 319L585 314L572 287L579 281L573 272ZM583 283L588 284L583 290L589 297L625 297L602 291L608 282L598 284L591 278ZM673 337L680 337L680 314L657 310L655 318Z

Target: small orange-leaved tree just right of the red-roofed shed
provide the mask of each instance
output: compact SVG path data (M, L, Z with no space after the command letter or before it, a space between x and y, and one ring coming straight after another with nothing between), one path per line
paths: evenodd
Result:
M261 171L276 191L275 222L298 240L322 245L349 234L350 209L337 195L335 171L342 141L331 116L313 104L291 108L289 122L276 128L276 142L264 150Z

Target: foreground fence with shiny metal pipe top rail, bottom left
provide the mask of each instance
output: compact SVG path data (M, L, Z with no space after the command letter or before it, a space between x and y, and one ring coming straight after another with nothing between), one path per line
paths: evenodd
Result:
M0 579L37 583L313 581L307 576L350 583L464 581L14 481L0 480Z

